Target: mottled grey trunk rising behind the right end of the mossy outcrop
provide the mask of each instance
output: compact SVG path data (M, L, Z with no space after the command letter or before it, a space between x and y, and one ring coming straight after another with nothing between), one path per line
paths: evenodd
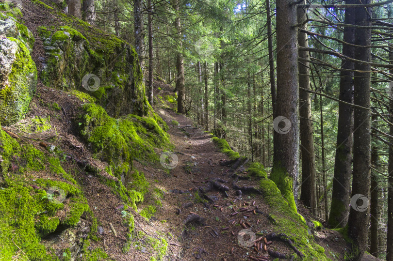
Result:
M134 30L135 30L135 49L139 58L139 65L142 72L145 69L145 34L143 25L143 0L134 0ZM145 81L145 80L144 80Z

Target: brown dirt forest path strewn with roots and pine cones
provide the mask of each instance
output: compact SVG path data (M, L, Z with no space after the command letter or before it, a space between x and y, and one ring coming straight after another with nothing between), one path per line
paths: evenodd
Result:
M179 240L175 245L170 245L171 260L211 261L225 258L227 261L239 261L249 260L249 255L268 257L267 252L263 250L257 254L252 248L240 246L237 239L238 232L244 229L243 225L239 224L240 220L251 225L251 227L248 225L246 227L255 233L272 231L272 224L264 215L253 213L253 210L257 208L268 213L268 206L263 202L262 196L253 198L243 195L239 197L236 194L236 190L232 188L234 179L229 178L233 172L229 171L229 167L219 164L220 160L226 160L228 156L219 151L212 141L211 134L199 129L189 118L173 110L156 109L156 112L170 126L168 133L176 147L174 153L179 160L176 168L170 170L169 177L160 183L168 193L165 194L163 208L155 215L158 220L166 221L165 226L173 234L173 240ZM179 122L179 126L175 126L172 123L173 120ZM239 173L239 169L237 171ZM206 186L203 182L216 178L228 181L224 183L229 187L228 197L225 192L213 188L206 193L213 201L200 202L197 187ZM242 180L236 184L258 187L257 181ZM222 208L214 207L214 205ZM236 210L246 207L249 212L242 212L244 215L231 216L234 212L232 206ZM203 224L191 222L185 225L184 220L191 215L190 213L203 217L205 219ZM232 220L234 220L233 225ZM245 241L247 239L245 236ZM293 254L292 249L284 243L274 242L274 245L275 250Z

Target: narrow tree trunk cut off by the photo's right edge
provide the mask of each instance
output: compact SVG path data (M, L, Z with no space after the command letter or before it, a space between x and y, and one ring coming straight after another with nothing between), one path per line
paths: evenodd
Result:
M389 48L393 51L393 46ZM390 63L393 64L393 54L389 53ZM390 70L393 73L393 70ZM393 114L393 102L389 101L390 115ZM389 121L393 121L393 116L389 118ZM393 136L393 127L389 126L389 134ZM393 144L393 138L389 138L389 142ZM389 146L389 166L388 166L388 232L386 241L386 261L393 261L393 146Z

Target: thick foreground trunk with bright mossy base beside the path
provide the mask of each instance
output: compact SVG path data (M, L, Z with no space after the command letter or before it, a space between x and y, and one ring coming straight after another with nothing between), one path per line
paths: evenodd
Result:
M296 212L299 175L299 86L296 49L297 7L277 1L277 104L271 179Z

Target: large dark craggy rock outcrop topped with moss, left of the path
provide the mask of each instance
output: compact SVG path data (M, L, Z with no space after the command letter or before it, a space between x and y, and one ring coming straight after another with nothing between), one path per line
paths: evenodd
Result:
M87 24L79 23L89 30ZM46 52L40 73L45 85L89 93L115 118L147 114L142 70L128 43L112 35L82 34L69 26L40 28L39 34Z

